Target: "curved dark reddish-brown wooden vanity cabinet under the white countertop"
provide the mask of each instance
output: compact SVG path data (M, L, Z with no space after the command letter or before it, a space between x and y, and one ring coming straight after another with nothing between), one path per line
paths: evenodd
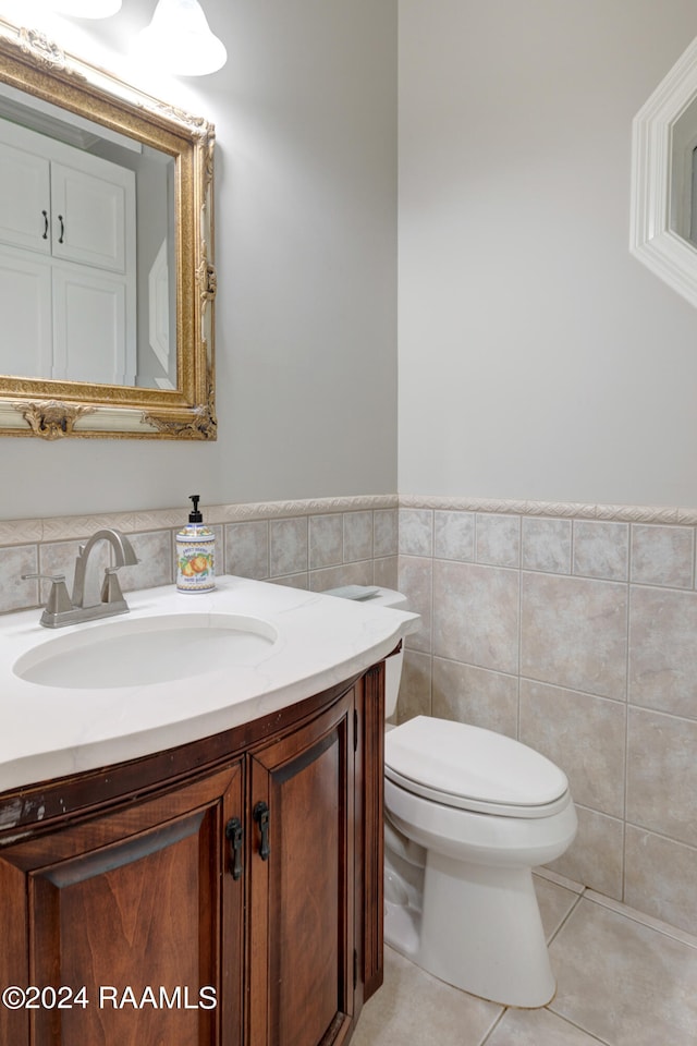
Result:
M382 693L377 666L0 795L0 990L46 989L0 1005L0 1042L346 1043L382 976Z

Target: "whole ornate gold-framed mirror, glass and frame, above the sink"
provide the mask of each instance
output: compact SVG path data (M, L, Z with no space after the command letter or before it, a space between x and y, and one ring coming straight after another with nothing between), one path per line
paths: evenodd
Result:
M0 435L216 438L213 145L0 19Z

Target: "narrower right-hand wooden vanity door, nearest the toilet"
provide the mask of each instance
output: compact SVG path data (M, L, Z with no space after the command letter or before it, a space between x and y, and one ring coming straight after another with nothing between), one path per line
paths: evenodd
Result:
M354 689L250 757L249 1046L341 1042L354 994Z

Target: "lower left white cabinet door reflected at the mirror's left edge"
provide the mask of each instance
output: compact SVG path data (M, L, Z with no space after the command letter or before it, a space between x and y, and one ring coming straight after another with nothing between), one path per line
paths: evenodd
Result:
M51 373L51 263L0 247L2 373L46 378Z

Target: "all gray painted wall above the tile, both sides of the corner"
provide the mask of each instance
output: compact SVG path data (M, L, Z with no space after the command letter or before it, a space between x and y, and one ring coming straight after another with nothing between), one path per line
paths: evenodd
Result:
M697 313L627 247L692 0L205 9L228 65L159 93L218 129L219 440L3 439L0 518L398 488L398 40L399 490L697 504Z

